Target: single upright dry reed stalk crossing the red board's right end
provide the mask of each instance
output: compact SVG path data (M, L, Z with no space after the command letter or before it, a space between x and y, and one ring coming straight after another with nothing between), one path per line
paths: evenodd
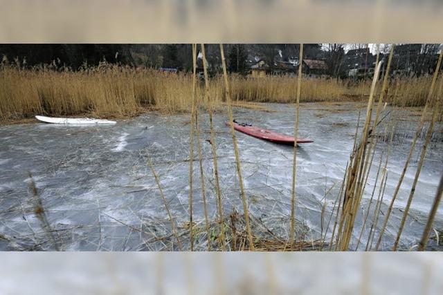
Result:
M303 44L300 44L300 56L298 57L298 77L297 77L297 94L296 94L296 120L293 124L293 160L292 160L292 187L291 187L291 229L289 231L289 242L293 243L296 231L296 178L297 178L297 137L298 137L298 121L300 113L300 93L302 84L302 58Z

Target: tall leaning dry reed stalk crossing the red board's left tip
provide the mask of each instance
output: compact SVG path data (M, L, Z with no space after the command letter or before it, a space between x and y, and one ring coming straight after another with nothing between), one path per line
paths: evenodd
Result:
M229 115L229 126L230 126L230 133L233 137L233 146L234 146L234 153L235 153L235 164L237 164L237 175L238 175L238 181L239 181L239 187L240 187L240 194L242 197L242 204L243 204L243 212L244 212L244 221L246 223L246 232L248 234L248 242L249 242L249 248L251 251L254 251L254 244L253 244L253 238L252 238L252 232L251 232L251 225L249 224L249 210L248 210L248 201L246 200L246 195L244 193L244 184L243 184L243 177L242 177L242 166L240 164L240 156L237 146L237 138L235 137L235 130L234 130L234 118L233 118L233 109L231 106L231 100L230 100L230 88L229 88L229 82L228 82L228 71L226 70L226 61L224 57L224 50L223 50L223 44L220 44L220 55L221 55L221 66L223 67L223 77L224 77L224 85L225 85L225 95L226 95L226 103L228 104L228 115Z

